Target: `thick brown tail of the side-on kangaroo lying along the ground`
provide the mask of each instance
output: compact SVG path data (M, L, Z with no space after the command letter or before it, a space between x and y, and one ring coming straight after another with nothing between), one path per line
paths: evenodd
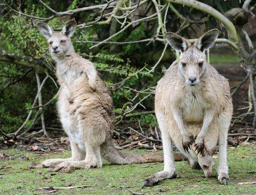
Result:
M112 143L112 140L106 141L101 145L102 157L113 164L132 164L148 162L164 162L162 153L128 153L120 152ZM186 160L186 157L180 153L174 153L174 160Z

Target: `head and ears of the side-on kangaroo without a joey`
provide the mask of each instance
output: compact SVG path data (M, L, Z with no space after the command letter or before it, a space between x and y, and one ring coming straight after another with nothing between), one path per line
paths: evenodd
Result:
M43 22L38 22L36 26L42 35L48 39L50 55L54 59L60 59L74 51L70 37L76 28L75 20L67 22L61 32L54 32L48 24Z

